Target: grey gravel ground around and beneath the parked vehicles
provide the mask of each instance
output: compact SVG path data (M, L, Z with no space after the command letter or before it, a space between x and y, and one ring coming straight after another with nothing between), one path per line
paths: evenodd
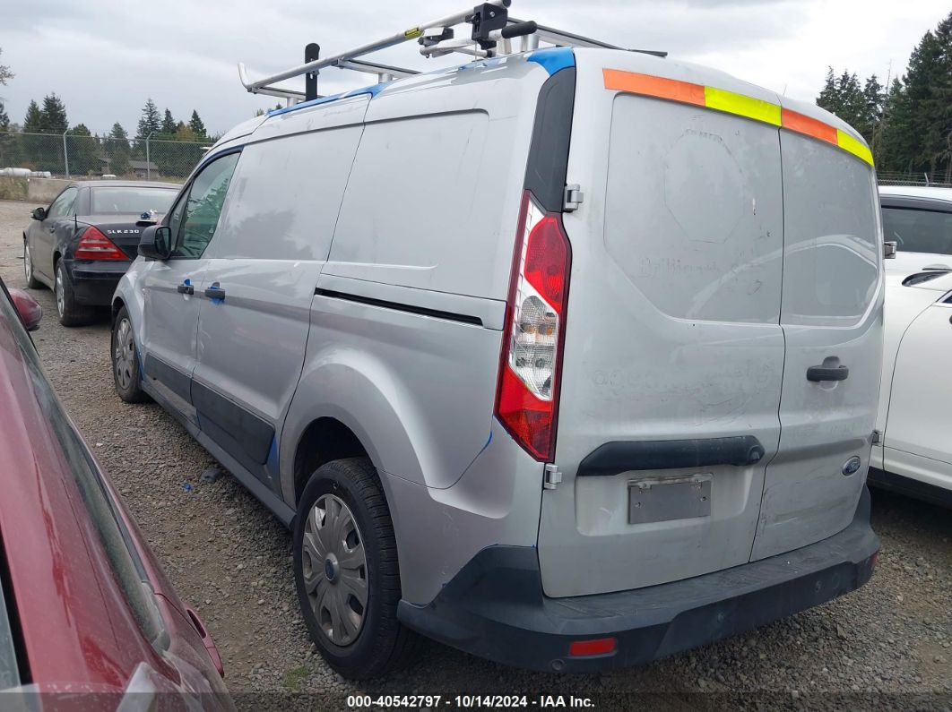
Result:
M0 202L0 276L23 286L32 205ZM656 664L601 676L514 670L427 645L387 680L352 684L314 652L297 612L290 539L266 508L154 404L113 392L109 324L66 329L47 290L33 336L53 385L221 651L239 706L346 708L348 694L528 694L603 709L825 706L952 708L952 513L876 493L880 565L861 590L775 625ZM443 705L445 706L445 705Z

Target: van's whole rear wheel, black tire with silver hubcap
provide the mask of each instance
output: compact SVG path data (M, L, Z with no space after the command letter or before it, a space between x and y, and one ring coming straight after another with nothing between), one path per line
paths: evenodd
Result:
M396 539L369 459L334 460L311 475L293 550L301 612L327 664L351 679L407 664L416 635L397 620Z

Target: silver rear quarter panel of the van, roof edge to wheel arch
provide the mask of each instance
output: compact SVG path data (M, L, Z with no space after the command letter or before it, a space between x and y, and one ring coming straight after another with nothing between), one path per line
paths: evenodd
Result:
M370 103L282 435L286 493L286 452L330 404L359 412L379 469L418 485L449 488L486 448L547 76L514 57Z

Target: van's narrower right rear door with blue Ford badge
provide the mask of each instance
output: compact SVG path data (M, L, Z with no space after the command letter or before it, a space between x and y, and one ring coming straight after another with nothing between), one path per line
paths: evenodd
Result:
M832 133L818 140L780 132L782 434L766 472L753 559L850 523L869 466L882 368L883 235L868 149L815 106L786 99L783 106L805 116L802 125L812 114Z

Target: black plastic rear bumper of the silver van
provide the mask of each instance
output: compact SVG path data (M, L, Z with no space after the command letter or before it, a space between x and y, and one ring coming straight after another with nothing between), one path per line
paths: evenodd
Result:
M548 598L534 548L480 551L426 606L401 601L405 625L497 663L596 672L645 664L765 625L865 584L880 540L869 491L853 522L808 547L660 586ZM585 567L585 562L565 562ZM571 657L576 641L615 638L612 653Z

